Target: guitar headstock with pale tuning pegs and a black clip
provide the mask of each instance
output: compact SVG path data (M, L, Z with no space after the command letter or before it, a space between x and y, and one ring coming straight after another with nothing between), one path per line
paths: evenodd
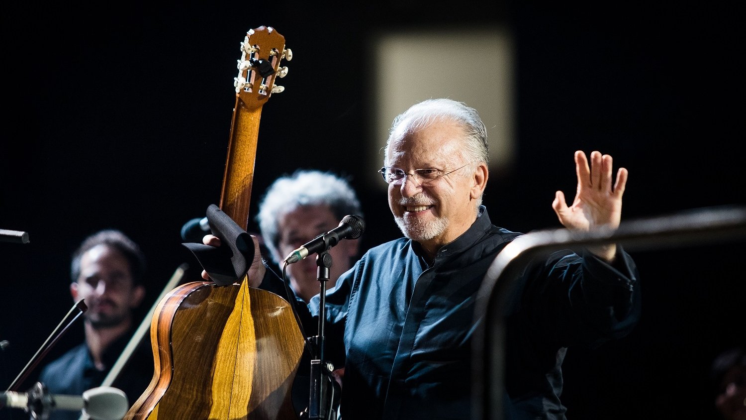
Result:
M285 37L275 28L260 26L246 33L241 43L238 77L233 79L236 95L246 107L262 107L272 93L285 90L275 84L276 78L287 75L287 67L280 67L283 58L292 60L292 51L285 48Z

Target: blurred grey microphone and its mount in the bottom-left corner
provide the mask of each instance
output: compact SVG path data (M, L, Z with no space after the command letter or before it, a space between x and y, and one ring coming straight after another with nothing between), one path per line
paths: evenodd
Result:
M121 389L98 386L82 396L51 395L43 383L37 382L29 392L5 391L0 395L0 408L22 408L33 419L46 419L54 410L80 411L95 420L122 420L129 402Z

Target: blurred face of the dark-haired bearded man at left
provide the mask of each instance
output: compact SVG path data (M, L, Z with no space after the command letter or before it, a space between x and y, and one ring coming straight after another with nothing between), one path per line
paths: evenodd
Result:
M95 328L116 327L131 321L145 290L135 285L127 259L108 245L96 245L81 257L81 274L70 284L75 301L84 299L87 322Z

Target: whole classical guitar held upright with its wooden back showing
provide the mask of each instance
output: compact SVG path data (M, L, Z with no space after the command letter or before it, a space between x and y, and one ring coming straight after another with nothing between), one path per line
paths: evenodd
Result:
M261 110L282 92L275 78L291 58L271 27L248 31L241 43L220 210L244 230ZM150 336L153 378L125 419L298 419L290 394L304 336L290 304L245 276L176 287L157 304Z

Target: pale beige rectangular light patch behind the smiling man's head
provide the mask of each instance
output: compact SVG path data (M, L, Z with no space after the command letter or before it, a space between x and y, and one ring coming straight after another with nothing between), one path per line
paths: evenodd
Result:
M378 176L394 117L428 98L451 98L475 108L487 126L492 176L510 169L513 41L507 28L388 30L371 40L375 107L368 173Z

